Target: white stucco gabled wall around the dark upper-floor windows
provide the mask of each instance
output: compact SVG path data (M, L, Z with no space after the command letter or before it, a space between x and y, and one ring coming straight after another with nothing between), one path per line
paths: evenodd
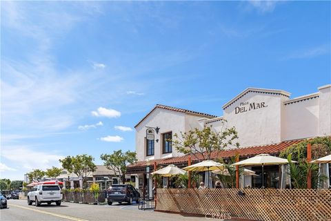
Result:
M155 140L159 139L159 142L154 142L154 156L146 156L146 126L159 127L159 134L155 133ZM161 134L172 131L178 133L185 130L185 113L179 113L176 111L168 111L165 109L157 108L150 116L148 116L139 126L136 128L136 152L137 159L160 159L162 157L177 157L182 153L177 153L176 149L172 147L172 153L162 154L162 139Z

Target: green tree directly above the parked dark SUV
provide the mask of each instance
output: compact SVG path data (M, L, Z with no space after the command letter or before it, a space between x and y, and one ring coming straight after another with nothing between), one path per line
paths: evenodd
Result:
M103 165L114 171L115 175L122 177L122 175L126 173L128 164L136 162L137 157L136 153L132 151L122 153L122 151L119 150L114 151L112 154L101 154L101 160L103 160Z

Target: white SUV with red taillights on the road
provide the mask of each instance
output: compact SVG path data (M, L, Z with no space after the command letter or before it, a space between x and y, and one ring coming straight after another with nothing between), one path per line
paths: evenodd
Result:
M49 205L52 202L56 202L57 206L60 206L61 200L61 189L57 184L41 184L34 186L32 191L28 193L29 205L32 205L32 202L34 202L35 206L40 206L41 203L47 203Z

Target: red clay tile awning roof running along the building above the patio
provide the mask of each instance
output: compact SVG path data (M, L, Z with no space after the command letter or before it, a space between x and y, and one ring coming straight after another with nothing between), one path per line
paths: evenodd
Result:
M288 146L291 146L292 144L297 144L303 140L305 140L305 139L283 141L279 144L268 144L268 145L264 145L264 146L250 146L250 147L245 147L245 148L234 148L234 149L230 149L230 150L221 151L218 154L215 151L214 153L212 153L211 158L215 159L217 157L222 157L222 158L234 157L237 153L239 154L240 157L249 157L249 156L258 155L261 153L277 155L281 151L283 151L283 149L287 148ZM157 164L187 164L188 157L189 157L189 155L183 155L181 157L169 157L169 158L165 158L165 159L151 160L151 165L154 164L154 162L157 162ZM192 156L191 160L192 160L192 162L198 161L198 159L194 156ZM202 157L200 160L202 160ZM144 166L146 166L146 162L139 161L139 162L129 165L128 171L130 171L134 168L135 169L142 168Z

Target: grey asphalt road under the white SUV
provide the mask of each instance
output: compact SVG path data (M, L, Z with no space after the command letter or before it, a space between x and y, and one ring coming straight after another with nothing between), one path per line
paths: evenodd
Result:
M53 204L34 204L28 206L26 200L8 200L8 209L1 209L1 221L19 220L204 220L205 218L187 217L183 215L159 213L154 211L140 211L137 204L90 205L62 202L61 206Z

